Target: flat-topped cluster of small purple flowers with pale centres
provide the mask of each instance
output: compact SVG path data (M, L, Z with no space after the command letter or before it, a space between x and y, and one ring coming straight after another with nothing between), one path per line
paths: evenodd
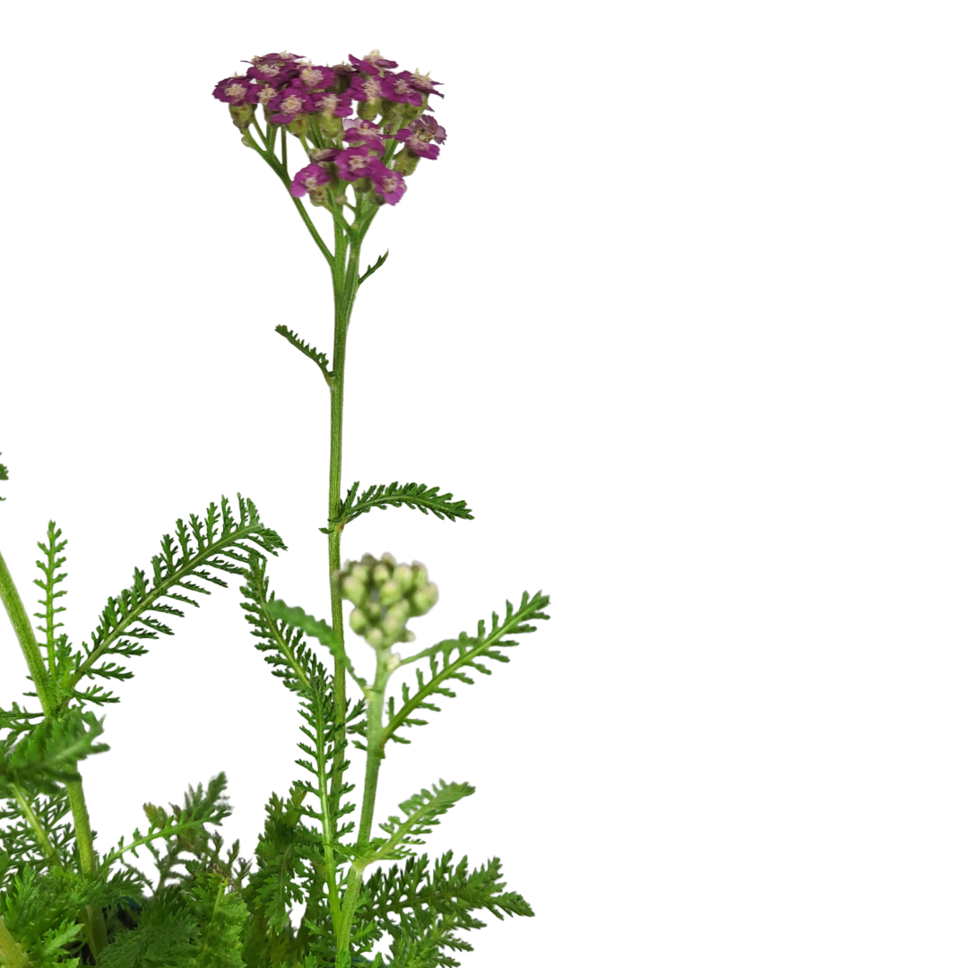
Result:
M428 104L432 94L443 97L439 81L419 71L394 72L396 61L378 50L363 58L350 54L348 64L334 67L286 51L247 63L252 66L244 76L220 80L212 94L228 105L244 133L255 125L267 148L274 126L299 139L310 164L291 179L295 197L308 195L313 204L331 207L346 201L352 184L357 195L372 188L378 201L393 205L420 159L439 156L447 133L425 113L434 110ZM267 136L258 127L259 105Z

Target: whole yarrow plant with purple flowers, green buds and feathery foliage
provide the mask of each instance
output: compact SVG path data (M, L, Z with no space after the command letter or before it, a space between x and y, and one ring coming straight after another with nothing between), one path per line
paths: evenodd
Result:
M417 850L441 815L473 793L468 783L428 783L376 832L374 822L389 744L408 742L404 734L425 725L423 716L439 711L439 697L455 696L457 683L506 662L514 639L547 618L548 597L526 592L472 633L405 654L414 639L409 623L438 601L427 567L390 554L341 561L340 552L344 529L374 508L471 518L466 501L439 487L395 481L361 489L357 481L344 495L342 485L349 318L359 287L387 258L361 272L361 248L380 208L404 197L420 161L439 159L446 132L429 103L442 97L439 81L396 71L377 50L335 66L285 51L247 63L244 74L215 85L214 97L227 104L245 147L283 182L333 284L331 361L287 325L276 327L329 389L329 489L319 530L328 545L330 620L269 589L268 561L286 546L241 496L179 519L149 566L135 569L131 587L107 599L79 647L60 621L61 530L51 522L39 545L42 597L33 617L0 557L0 597L33 683L26 704L0 711L0 965L11 968L456 966L455 953L471 950L460 932L484 926L476 912L531 914L520 894L504 890L497 859L472 867L452 851L432 861ZM330 216L328 244L304 199ZM0 481L7 478L0 465ZM143 832L97 850L78 764L107 748L96 710L119 697L106 684L130 679L124 663L172 634L168 623L212 586L226 588L229 576L242 580L257 650L298 702L302 772L285 796L270 798L248 860L239 841L227 848L218 832L229 813L224 773L190 787L183 804L145 803ZM368 670L349 660L344 602L349 631L372 650ZM397 679L399 690L391 687ZM353 749L363 754L358 765ZM130 861L142 847L157 879Z

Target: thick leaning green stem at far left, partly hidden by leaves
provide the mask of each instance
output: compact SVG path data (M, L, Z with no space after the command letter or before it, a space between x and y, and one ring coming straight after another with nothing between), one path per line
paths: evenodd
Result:
M47 676L44 657L34 635L34 629L27 618L20 593L16 590L14 578L7 567L7 562L0 555L0 598L10 617L11 624L23 657L27 660L30 678L37 688L37 698L41 701L41 708L47 719L56 711L57 702L53 686ZM91 833L91 821L84 802L84 789L80 780L71 780L65 784L68 800L71 802L71 812L74 814L74 829L77 838L77 851L80 855L80 869L86 880L93 877L97 865L94 854L94 836ZM97 957L98 953L107 945L107 928L104 913L100 908L87 906L81 918L87 931L88 944Z

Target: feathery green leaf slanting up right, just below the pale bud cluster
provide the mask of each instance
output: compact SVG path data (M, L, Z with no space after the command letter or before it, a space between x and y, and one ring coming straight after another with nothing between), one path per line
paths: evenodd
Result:
M499 619L497 612L492 613L490 632L487 631L485 621L481 619L477 623L476 636L471 637L467 632L461 632L457 639L445 639L404 659L401 665L426 659L430 666L430 676L425 677L423 670L418 669L417 687L412 692L408 683L404 683L399 709L395 697L390 697L387 703L388 722L383 729L380 746L390 740L408 742L397 736L397 731L403 726L426 725L426 719L417 719L413 713L418 710L439 712L439 706L430 702L432 696L453 699L456 693L445 683L460 681L472 685L474 680L469 676L471 670L490 676L491 670L484 665L484 659L509 662L510 659L499 650L512 649L518 643L508 636L533 632L534 626L529 622L548 618L543 609L549 601L548 595L543 595L540 591L534 595L529 595L526 591L517 609L510 602L506 603L503 620Z

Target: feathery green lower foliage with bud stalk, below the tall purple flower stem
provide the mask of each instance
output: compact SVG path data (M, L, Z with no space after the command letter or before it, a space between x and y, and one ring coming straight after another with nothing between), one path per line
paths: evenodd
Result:
M495 613L490 626L481 621L476 635L462 633L402 659L392 648L412 639L406 622L433 606L436 586L422 565L389 555L347 562L333 588L366 613L366 621L350 624L374 648L368 681L331 626L269 590L266 556L285 546L251 502L240 499L237 511L225 500L213 504L188 526L179 522L177 533L178 540L163 539L153 581L136 571L132 588L109 599L94 645L79 649L55 620L66 577L60 530L51 523L40 544L40 641L24 633L25 616L18 627L19 598L6 566L0 569L21 645L25 654L33 650L28 665L36 692L27 696L42 707L15 703L0 711L0 965L456 966L456 955L471 950L464 932L484 926L478 914L530 916L528 902L504 890L498 859L473 867L467 857L455 862L451 851L432 860L416 850L440 816L473 793L469 784L441 780L401 803L378 825L379 835L371 827L387 742L406 742L398 734L423 725L417 718L423 711L439 711L433 700L453 696L455 682L471 682L473 671L489 673L488 660L506 661L504 650L516 644L510 636L546 618L547 597L526 594L517 608L507 603L503 616ZM242 608L256 647L298 702L301 775L285 797L273 794L266 804L250 860L240 856L238 841L228 847L219 832L230 812L224 773L190 787L180 804L145 803L146 830L98 854L77 765L107 749L104 720L92 707L117 697L97 685L80 688L81 681L130 678L104 656L142 654L145 641L170 634L153 615L180 617L178 605L197 604L186 592L207 592L200 582L227 584L220 571L242 577ZM337 696L322 658L327 653L358 687L355 702ZM417 665L415 682L388 697L392 675L410 664ZM350 741L366 753L359 809L346 779ZM130 862L141 848L154 858L153 879ZM304 906L298 921L297 905Z

